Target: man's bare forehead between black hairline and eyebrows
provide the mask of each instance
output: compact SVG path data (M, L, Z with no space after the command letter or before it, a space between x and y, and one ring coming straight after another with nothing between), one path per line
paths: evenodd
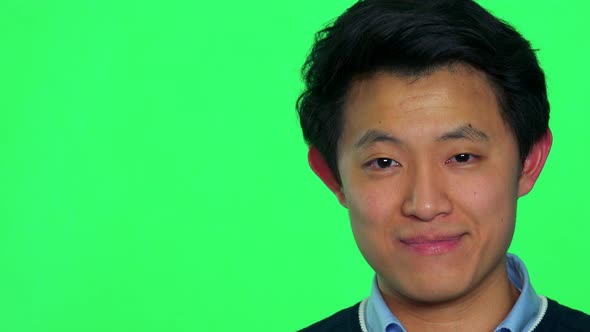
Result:
M415 139L468 124L506 130L495 90L483 72L466 65L420 76L379 72L352 85L341 141L372 129Z

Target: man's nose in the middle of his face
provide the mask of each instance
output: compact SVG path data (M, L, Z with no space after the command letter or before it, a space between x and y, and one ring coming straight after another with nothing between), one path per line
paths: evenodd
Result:
M432 221L438 216L449 214L452 203L443 174L429 167L421 167L413 173L408 174L402 213L419 221Z

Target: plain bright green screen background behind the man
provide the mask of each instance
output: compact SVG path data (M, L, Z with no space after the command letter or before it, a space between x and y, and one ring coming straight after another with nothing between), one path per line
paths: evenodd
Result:
M3 0L0 330L293 331L369 293L294 102L352 1ZM481 1L547 75L511 251L590 312L586 1Z

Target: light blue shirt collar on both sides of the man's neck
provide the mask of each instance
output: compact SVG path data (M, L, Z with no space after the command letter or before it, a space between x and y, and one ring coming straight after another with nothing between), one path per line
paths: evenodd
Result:
M508 254L506 259L508 278L520 291L520 296L506 319L496 327L495 332L528 331L541 311L541 298L537 296L524 263L515 255ZM373 280L371 296L367 301L365 323L369 332L406 332L402 323L391 313Z

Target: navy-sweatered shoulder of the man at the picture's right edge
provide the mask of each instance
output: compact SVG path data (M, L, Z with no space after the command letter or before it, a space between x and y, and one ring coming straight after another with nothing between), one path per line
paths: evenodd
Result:
M539 332L542 331L590 331L590 316L562 304L547 299L547 313L539 325Z

